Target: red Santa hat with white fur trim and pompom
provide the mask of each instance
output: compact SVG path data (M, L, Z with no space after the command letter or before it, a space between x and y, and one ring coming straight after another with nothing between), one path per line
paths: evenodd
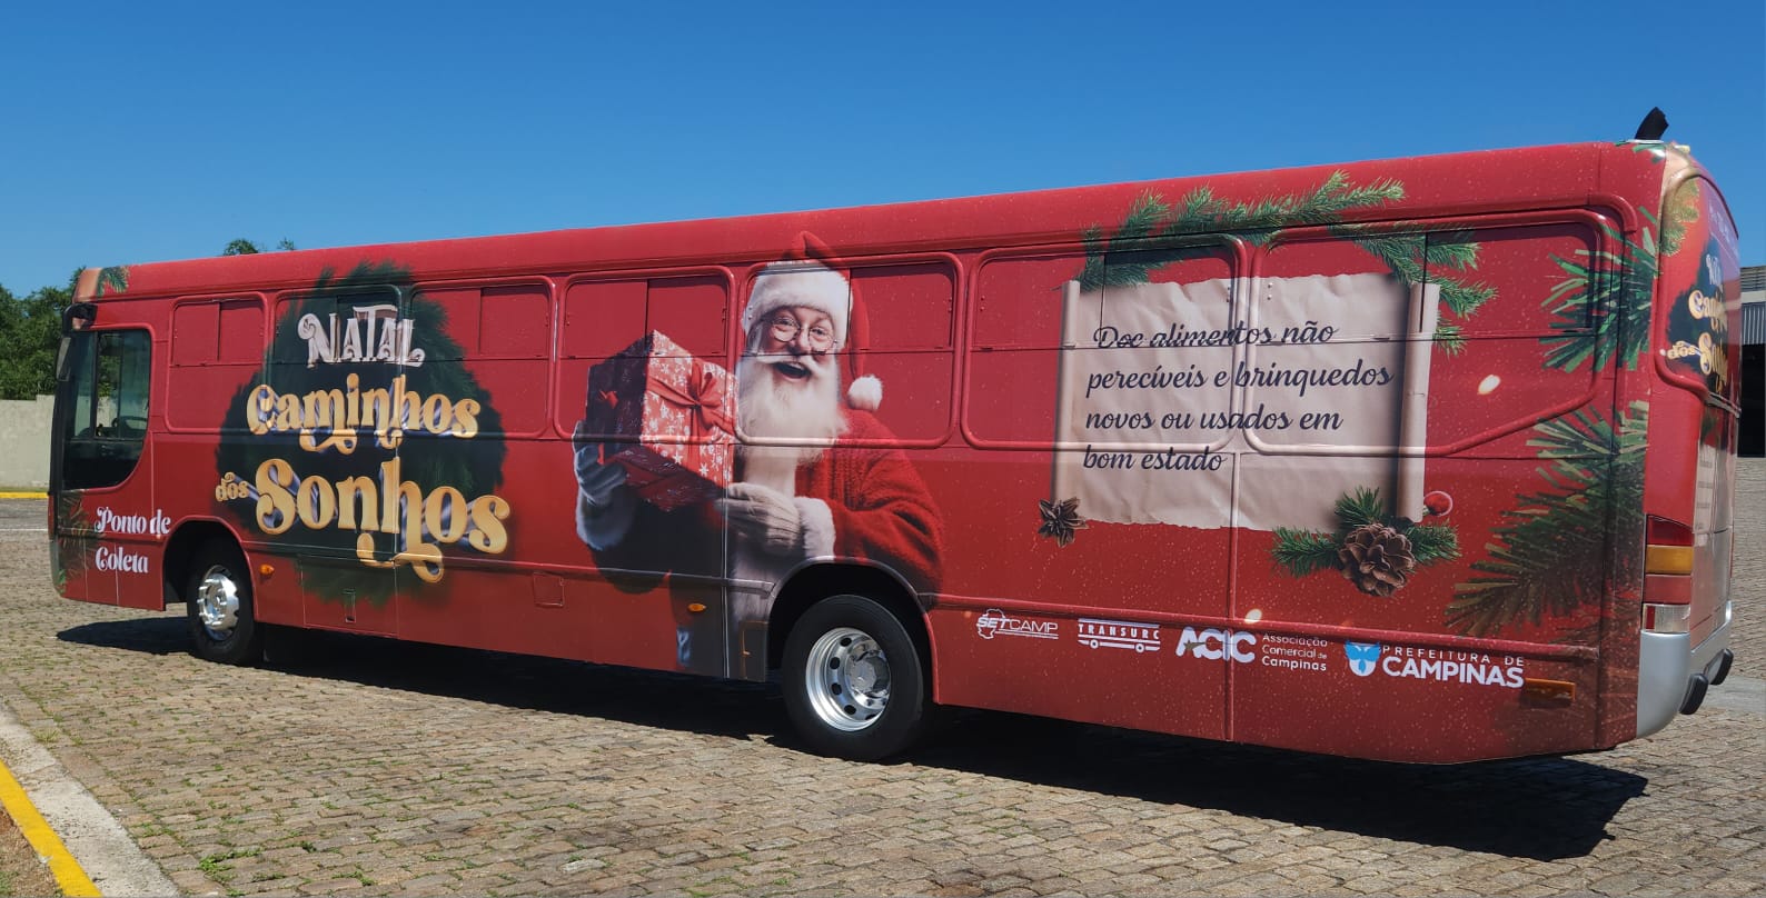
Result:
M865 307L849 272L826 243L811 233L798 235L798 245L784 259L761 268L749 291L749 305L742 312L742 332L754 333L754 325L779 309L814 309L834 323L835 351L846 367L846 404L855 409L876 411L883 402L883 381L864 372L864 358L857 351L869 337Z

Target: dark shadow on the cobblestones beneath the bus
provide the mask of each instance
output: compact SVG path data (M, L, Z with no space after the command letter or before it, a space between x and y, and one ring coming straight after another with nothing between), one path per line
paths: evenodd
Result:
M178 617L92 623L60 639L185 653ZM281 633L267 669L507 707L805 750L777 686L346 633ZM1351 760L992 711L948 709L908 760L1293 826L1558 861L1595 850L1648 780L1577 759L1462 766Z

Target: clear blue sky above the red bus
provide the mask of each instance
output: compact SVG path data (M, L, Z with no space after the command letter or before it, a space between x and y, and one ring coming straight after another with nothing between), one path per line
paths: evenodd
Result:
M1766 12L1681 4L48 4L0 284L83 265L1630 138L1766 263Z

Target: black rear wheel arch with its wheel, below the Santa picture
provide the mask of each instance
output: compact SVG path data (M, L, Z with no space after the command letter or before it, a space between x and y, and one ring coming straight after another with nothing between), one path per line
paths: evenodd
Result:
M885 572L826 568L793 579L774 605L768 655L781 670L786 713L819 753L895 755L925 734L934 715L925 616Z

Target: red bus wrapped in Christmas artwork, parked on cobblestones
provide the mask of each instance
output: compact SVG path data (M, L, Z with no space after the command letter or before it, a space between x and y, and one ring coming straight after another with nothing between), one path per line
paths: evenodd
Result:
M1738 293L1642 139L94 268L55 584L777 676L851 759L1611 748L1732 660Z

